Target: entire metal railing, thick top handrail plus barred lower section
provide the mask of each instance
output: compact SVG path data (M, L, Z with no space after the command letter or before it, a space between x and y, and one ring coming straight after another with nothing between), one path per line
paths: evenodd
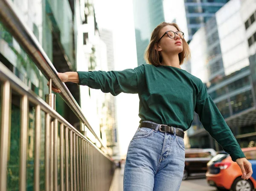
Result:
M63 100L73 110L82 125L85 125L96 137L101 148L76 130L0 62L0 191L7 190L13 94L20 97L20 156L17 165L19 167L17 189L25 191L27 186L28 120L29 107L33 105L35 108L34 190L39 191L42 182L40 151L43 149L45 191L108 191L113 177L114 163L106 153L107 148L87 122L70 91L58 78L57 71L35 36L17 17L11 3L9 0L0 0L0 21L44 76L61 90ZM41 117L41 112L45 114L44 119ZM45 121L44 148L41 145L42 120Z

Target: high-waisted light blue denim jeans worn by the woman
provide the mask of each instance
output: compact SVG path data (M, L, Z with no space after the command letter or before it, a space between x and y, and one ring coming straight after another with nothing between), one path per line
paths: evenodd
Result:
M138 128L134 134L125 162L124 191L179 190L185 167L184 141L176 132L158 131L159 126Z

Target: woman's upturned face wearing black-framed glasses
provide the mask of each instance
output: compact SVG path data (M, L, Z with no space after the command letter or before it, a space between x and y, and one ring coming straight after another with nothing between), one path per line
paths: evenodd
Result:
M157 43L157 51L162 51L167 54L179 54L183 51L183 42L179 35L175 34L174 38L170 38L165 32L166 31L174 31L177 32L175 26L165 26L161 29L159 37L163 38ZM173 33L172 33L173 34Z

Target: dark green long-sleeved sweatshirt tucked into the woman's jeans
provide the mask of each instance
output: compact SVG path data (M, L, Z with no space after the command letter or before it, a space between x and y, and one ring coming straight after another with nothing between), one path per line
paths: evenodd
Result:
M116 96L138 94L139 117L154 123L182 128L192 124L194 111L209 134L232 157L243 152L202 81L172 66L140 65L123 71L78 71L79 85Z

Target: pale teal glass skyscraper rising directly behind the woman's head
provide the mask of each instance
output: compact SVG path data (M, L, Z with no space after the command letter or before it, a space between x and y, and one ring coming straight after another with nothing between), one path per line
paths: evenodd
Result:
M150 42L151 32L164 21L163 1L133 0L133 9L137 61L141 65L145 63L144 53Z

